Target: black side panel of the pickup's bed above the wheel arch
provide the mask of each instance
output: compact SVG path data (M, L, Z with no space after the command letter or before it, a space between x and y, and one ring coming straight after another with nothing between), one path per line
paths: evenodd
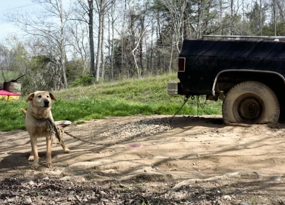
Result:
M192 94L212 95L215 78L224 70L285 74L283 41L186 39L179 58L185 58L185 71L178 72L181 87Z

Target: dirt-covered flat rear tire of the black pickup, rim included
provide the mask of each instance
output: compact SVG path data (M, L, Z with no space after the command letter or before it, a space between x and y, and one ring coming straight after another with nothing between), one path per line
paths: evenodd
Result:
M226 124L277 123L280 106L275 93L268 86L246 81L232 87L223 101L223 119Z

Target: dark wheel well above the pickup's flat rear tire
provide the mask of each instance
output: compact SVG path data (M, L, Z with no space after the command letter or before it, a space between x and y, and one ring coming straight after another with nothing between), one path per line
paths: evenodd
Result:
M218 76L215 91L223 91L226 94L230 88L244 81L257 81L271 88L279 100L281 115L285 118L285 82L284 79L276 73L226 71Z

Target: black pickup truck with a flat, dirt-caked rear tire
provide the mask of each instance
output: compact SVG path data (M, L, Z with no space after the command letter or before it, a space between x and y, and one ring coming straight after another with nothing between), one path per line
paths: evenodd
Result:
M223 99L226 124L277 123L285 108L285 42L184 40L178 79L169 94Z

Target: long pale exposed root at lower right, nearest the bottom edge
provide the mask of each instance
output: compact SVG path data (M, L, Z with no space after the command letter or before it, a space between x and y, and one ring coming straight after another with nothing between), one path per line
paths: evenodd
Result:
M232 178L232 177L244 177L244 178L258 178L261 179L262 175L256 173L256 172L246 172L246 171L239 171L239 172L232 172L232 173L227 173L222 176L213 176L210 178L193 178L193 179L188 179L181 181L180 183L176 184L174 187L171 188L171 191L177 191L184 185L189 185L189 184L194 184L198 182L207 182L207 181L215 181L215 180L221 180L221 179L227 179L227 178Z

